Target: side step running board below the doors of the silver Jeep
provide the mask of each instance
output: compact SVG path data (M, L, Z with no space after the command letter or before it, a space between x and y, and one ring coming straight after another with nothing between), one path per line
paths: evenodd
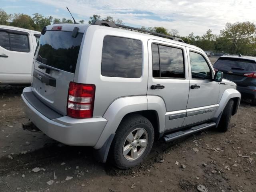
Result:
M184 136L191 135L191 134L194 134L196 132L200 132L202 130L205 130L205 129L208 129L208 128L214 127L214 126L216 126L216 123L214 123L214 122L204 123L204 124L201 124L201 125L198 125L198 126L195 126L195 127L191 127L191 128L189 128L187 130L184 130L184 131L178 131L178 132L175 132L175 133L172 133L172 134L168 134L168 135L164 136L164 141L167 143L167 142L176 140L178 138L182 138Z

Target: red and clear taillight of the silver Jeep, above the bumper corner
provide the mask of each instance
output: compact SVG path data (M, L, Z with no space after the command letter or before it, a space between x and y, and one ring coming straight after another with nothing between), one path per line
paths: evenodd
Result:
M95 85L70 82L67 115L72 118L92 118Z

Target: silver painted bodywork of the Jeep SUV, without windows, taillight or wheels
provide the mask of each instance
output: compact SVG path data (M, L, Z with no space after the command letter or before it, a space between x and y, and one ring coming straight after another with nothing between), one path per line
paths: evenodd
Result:
M65 30L72 31L78 24L64 24ZM52 26L48 26L51 28ZM26 114L38 128L49 137L69 145L93 146L100 149L111 134L114 134L121 120L129 113L154 110L158 117L158 132L164 132L202 120L217 118L230 98L240 98L236 85L220 85L210 80L192 80L190 74L189 50L201 53L208 64L205 53L195 46L151 36L96 25L79 25L84 32L75 74L52 72L56 88L50 90L33 79L32 87L23 92L33 91L47 106L63 115L49 120L29 104L24 96ZM120 36L138 39L143 46L143 67L140 78L118 78L101 75L102 46L105 36ZM181 48L184 52L185 78L153 78L151 44L158 43ZM38 68L38 63L34 63ZM214 70L210 65L212 73ZM93 118L74 119L66 115L66 100L70 81L95 84L96 95ZM224 80L225 81L225 80ZM163 84L162 90L152 90L153 84ZM190 85L200 84L199 89ZM42 90L40 90L40 87ZM49 95L44 94L44 90Z

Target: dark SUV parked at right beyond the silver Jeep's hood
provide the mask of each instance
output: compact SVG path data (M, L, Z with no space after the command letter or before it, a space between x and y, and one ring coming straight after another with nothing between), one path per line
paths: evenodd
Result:
M242 96L256 105L256 57L222 56L213 67L224 73L223 78L235 82Z

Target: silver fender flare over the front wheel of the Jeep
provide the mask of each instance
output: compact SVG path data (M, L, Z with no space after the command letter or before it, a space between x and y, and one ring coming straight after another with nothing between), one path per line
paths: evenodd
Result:
M239 104L240 104L240 100L241 100L241 94L240 92L238 92L238 90L234 89L234 88L229 88L226 89L220 99L219 102L219 107L217 108L215 114L214 114L214 118L218 118L218 116L222 113L222 111L224 110L226 104L228 103L228 101L232 98L239 98L237 105L236 105L236 111L238 110Z

